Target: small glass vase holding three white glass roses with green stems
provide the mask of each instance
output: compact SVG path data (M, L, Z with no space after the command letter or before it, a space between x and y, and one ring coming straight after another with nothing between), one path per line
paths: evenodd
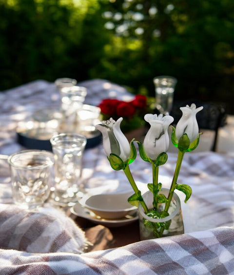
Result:
M169 189L162 188L159 193L162 193L167 197ZM142 197L148 209L153 209L153 193L151 191L147 191L142 195ZM158 212L163 211L164 208L165 203L158 204ZM180 207L180 199L175 192L168 213L169 216L165 218L152 218L145 214L143 207L139 204L140 240L183 234L184 224ZM165 225L165 223L168 222L170 223L169 228L164 229L162 225Z

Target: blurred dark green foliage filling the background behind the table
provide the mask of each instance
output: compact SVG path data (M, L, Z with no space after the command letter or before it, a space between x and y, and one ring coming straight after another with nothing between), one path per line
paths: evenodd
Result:
M0 0L0 90L103 78L154 96L156 75L233 112L234 1Z

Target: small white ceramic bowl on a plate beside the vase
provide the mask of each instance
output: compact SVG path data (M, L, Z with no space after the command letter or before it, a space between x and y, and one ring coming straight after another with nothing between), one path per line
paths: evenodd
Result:
M80 204L103 219L121 219L129 212L137 209L128 202L131 193L99 194L83 197Z

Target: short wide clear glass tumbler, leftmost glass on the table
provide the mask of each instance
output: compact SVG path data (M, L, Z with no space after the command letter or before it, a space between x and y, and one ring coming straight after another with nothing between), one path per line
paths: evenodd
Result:
M51 152L24 150L8 158L12 196L16 204L34 210L49 197L54 164Z

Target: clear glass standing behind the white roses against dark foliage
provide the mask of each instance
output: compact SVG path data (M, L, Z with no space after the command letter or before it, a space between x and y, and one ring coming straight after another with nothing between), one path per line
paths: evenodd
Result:
M153 82L156 93L156 108L161 114L168 115L172 110L177 80L172 76L156 76Z

